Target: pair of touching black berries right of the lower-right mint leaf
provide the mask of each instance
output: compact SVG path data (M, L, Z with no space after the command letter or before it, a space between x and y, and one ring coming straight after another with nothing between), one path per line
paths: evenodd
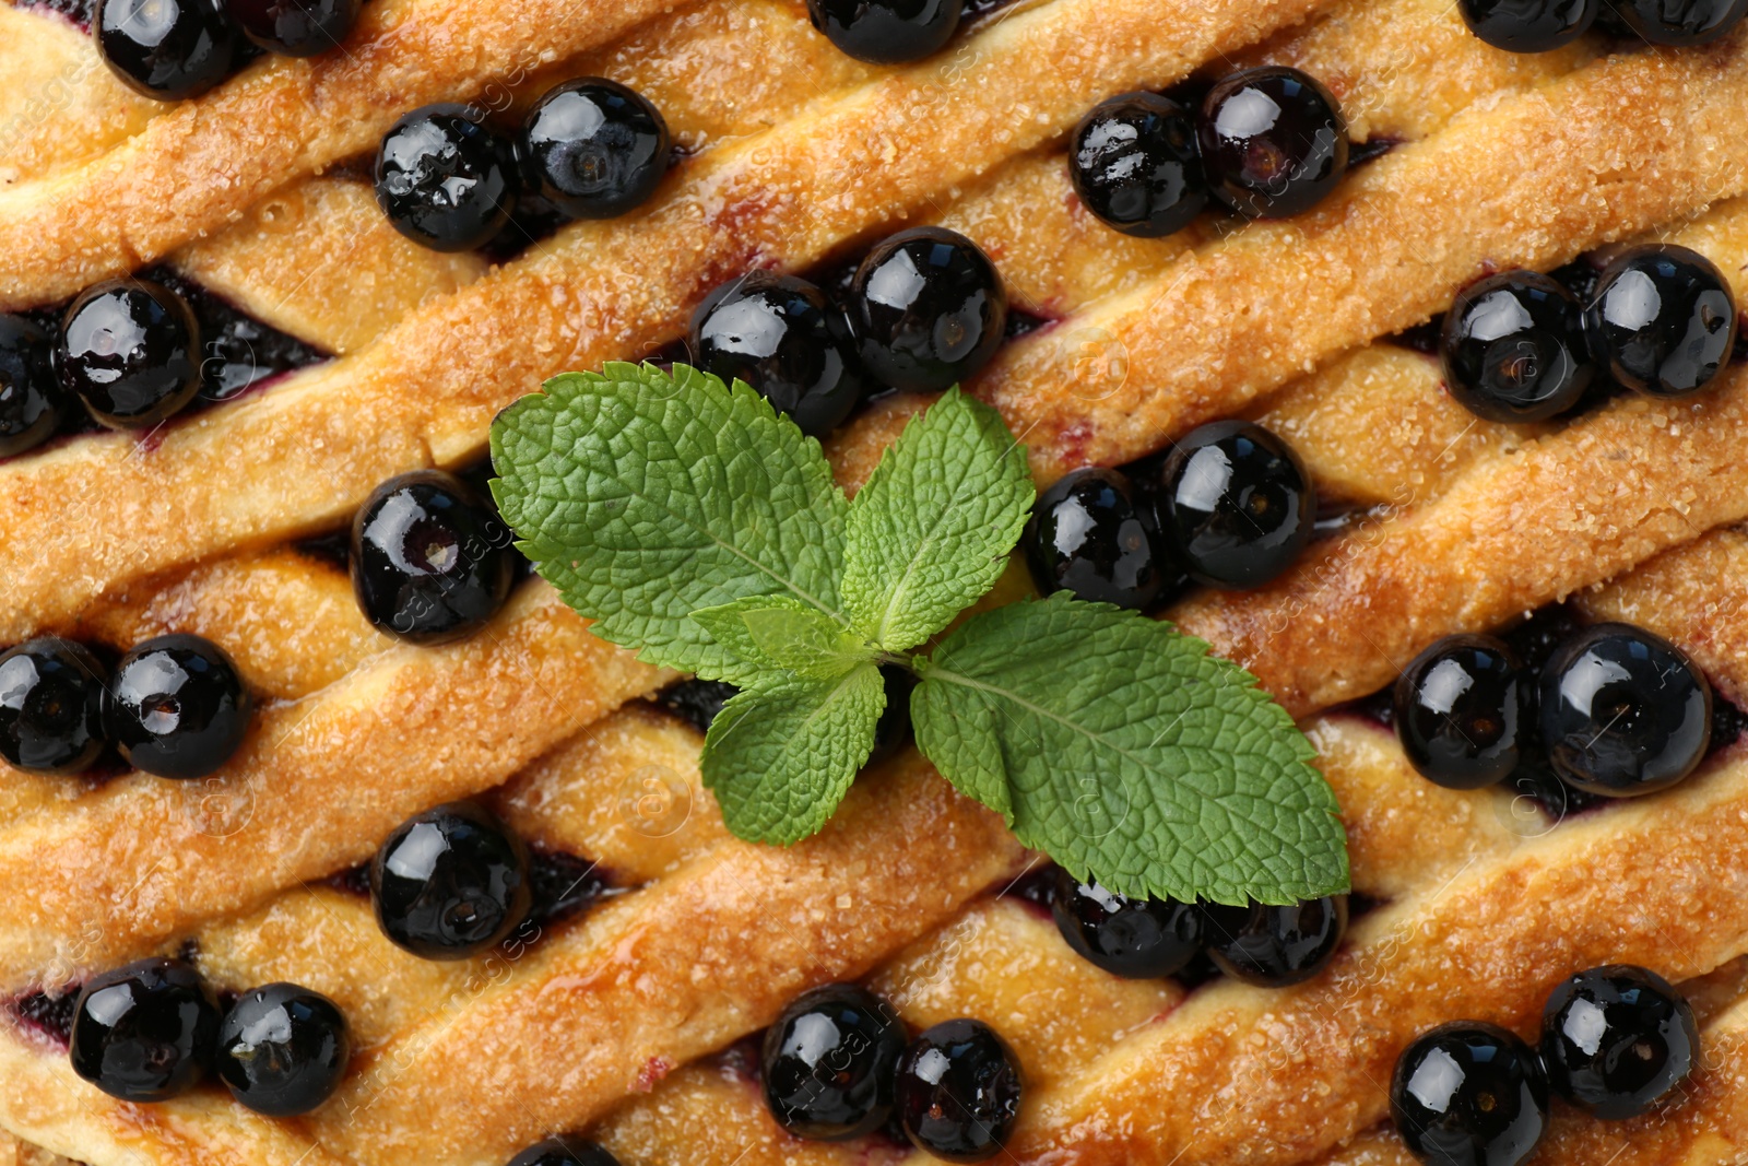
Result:
M1474 790L1545 757L1601 797L1664 790L1711 743L1711 685L1682 649L1631 624L1566 636L1540 670L1493 636L1449 636L1395 685L1402 752L1430 781Z

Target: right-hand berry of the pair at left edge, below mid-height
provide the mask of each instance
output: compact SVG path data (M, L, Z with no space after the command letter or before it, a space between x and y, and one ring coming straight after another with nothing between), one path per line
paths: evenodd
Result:
M103 727L128 762L161 778L205 778L248 736L255 701L212 640L157 636L115 666Z

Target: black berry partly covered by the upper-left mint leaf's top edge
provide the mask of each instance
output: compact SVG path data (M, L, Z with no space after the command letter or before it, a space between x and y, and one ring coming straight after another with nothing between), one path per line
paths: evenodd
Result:
M692 313L692 355L699 369L757 388L811 437L862 399L850 323L795 276L755 271L711 292Z

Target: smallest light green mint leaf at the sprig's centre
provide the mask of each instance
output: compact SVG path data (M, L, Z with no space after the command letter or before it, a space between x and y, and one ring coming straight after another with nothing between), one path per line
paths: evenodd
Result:
M738 675L722 677L741 687L757 685L771 671L836 680L876 656L862 636L794 596L753 594L692 612L692 619L745 663Z

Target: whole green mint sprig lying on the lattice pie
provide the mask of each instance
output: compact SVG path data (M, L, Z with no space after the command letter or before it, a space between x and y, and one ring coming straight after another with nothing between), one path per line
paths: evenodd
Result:
M1348 890L1335 797L1255 678L1169 624L1066 594L984 612L1031 507L1024 449L953 390L844 498L816 441L685 365L549 381L491 427L519 547L598 635L743 691L704 738L729 829L794 843L874 746L883 664L916 741L1023 843L1124 895Z

